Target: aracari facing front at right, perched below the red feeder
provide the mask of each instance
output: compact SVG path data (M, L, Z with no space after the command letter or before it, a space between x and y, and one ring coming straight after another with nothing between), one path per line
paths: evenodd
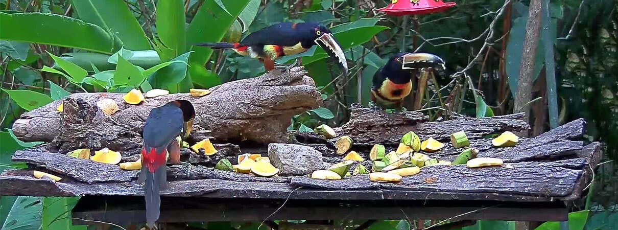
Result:
M394 106L405 112L402 106L404 98L412 90L412 77L421 68L431 68L442 71L444 61L434 54L427 53L398 53L392 56L386 65L373 75L371 86L370 106Z

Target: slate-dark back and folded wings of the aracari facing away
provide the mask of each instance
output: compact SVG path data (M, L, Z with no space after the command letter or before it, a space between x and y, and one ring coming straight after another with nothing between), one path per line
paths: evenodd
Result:
M182 132L182 110L173 104L154 108L144 125L144 144L150 148L167 147Z

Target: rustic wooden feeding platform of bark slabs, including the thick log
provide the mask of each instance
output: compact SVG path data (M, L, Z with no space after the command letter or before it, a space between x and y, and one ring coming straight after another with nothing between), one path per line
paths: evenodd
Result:
M599 161L598 142L584 145L585 121L577 119L533 138L520 138L515 147L496 148L488 135L528 129L523 114L472 118L452 116L428 121L421 113L390 114L352 105L350 121L324 138L313 132L288 132L295 114L321 106L321 95L302 68L274 70L253 79L211 88L193 98L186 93L147 98L140 105L122 101L118 93L77 93L25 113L14 132L24 141L47 142L17 151L13 161L28 169L0 175L0 195L82 196L73 210L74 224L88 221L144 223L143 188L138 171L115 164L66 155L77 148L107 147L122 154L122 162L139 159L141 129L150 109L182 98L196 108L195 143L211 138L218 153L206 156L182 148L181 160L191 166L168 165L169 189L161 194L160 223L190 221L263 221L274 219L506 219L564 221L568 203L582 196ZM101 112L96 101L110 98L120 110ZM64 111L57 111L63 103ZM435 165L406 176L401 182L371 182L367 174L340 181L306 175L256 177L213 169L222 158L236 162L243 153L271 155L272 143L308 148L321 156L320 168L342 161L334 142L342 135L354 141L352 150L368 159L373 144L397 148L412 130L421 140L447 143L432 158L451 161L459 155L450 134L464 131L479 157L501 158L502 166L467 168L465 164ZM281 145L281 144L280 144ZM269 147L270 146L270 147ZM305 154L298 152L297 154ZM371 161L360 163L371 168ZM322 167L323 166L323 167ZM352 167L352 169L355 166ZM62 177L36 179L32 171Z

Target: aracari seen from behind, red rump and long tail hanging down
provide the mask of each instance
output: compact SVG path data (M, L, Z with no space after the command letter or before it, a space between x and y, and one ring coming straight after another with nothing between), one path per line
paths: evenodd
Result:
M143 128L142 170L138 182L144 183L146 224L153 228L159 219L159 190L167 189L166 162L180 163L180 143L191 132L195 110L189 101L170 101L153 108ZM179 138L180 143L179 143Z

